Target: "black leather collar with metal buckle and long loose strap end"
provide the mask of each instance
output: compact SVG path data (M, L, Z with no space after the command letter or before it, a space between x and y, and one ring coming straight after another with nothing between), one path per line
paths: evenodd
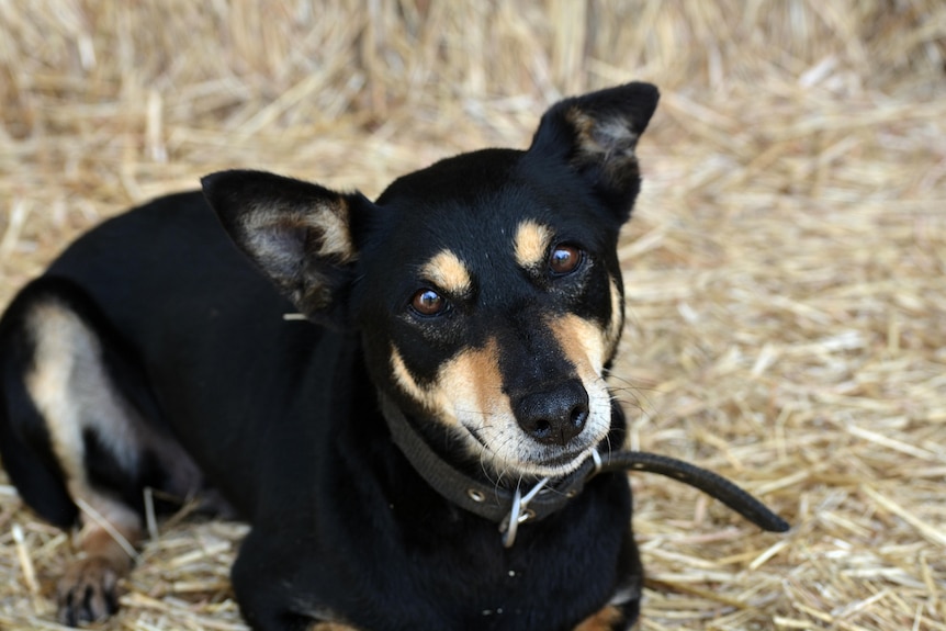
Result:
M756 526L785 532L789 525L755 497L729 480L687 462L644 451L594 452L575 472L556 480L543 478L525 494L483 482L458 471L440 458L387 397L381 407L394 443L435 491L452 504L499 525L506 547L513 545L519 523L540 521L565 507L601 472L646 471L695 486L716 497ZM515 515L515 518L514 518Z

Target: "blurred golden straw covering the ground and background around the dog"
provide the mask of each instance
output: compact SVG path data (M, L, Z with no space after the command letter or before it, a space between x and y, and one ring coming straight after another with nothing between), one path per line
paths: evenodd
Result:
M663 93L621 250L631 440L795 525L634 475L639 628L946 629L942 0L0 2L0 302L209 171L375 195L631 79ZM101 628L245 629L245 528L182 517ZM57 628L70 547L0 477L0 628Z

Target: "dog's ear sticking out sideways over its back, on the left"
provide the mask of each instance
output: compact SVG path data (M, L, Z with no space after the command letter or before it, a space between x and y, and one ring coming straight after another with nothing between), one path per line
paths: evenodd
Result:
M230 238L280 291L307 317L331 319L358 258L354 215L371 202L262 171L222 171L201 183Z

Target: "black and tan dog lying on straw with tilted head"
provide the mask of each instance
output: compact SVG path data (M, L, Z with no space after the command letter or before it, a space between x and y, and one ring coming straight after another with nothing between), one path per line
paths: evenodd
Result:
M627 476L585 473L624 438L616 245L656 103L562 101L528 150L374 203L215 173L67 249L0 323L3 464L82 527L60 619L113 611L153 487L250 522L233 584L255 629L633 624Z

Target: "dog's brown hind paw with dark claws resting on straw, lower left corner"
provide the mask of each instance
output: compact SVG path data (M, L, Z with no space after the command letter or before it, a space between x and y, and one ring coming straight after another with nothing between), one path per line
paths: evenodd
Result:
M56 586L59 623L78 627L117 611L119 577L123 574L111 560L101 556L74 563Z

